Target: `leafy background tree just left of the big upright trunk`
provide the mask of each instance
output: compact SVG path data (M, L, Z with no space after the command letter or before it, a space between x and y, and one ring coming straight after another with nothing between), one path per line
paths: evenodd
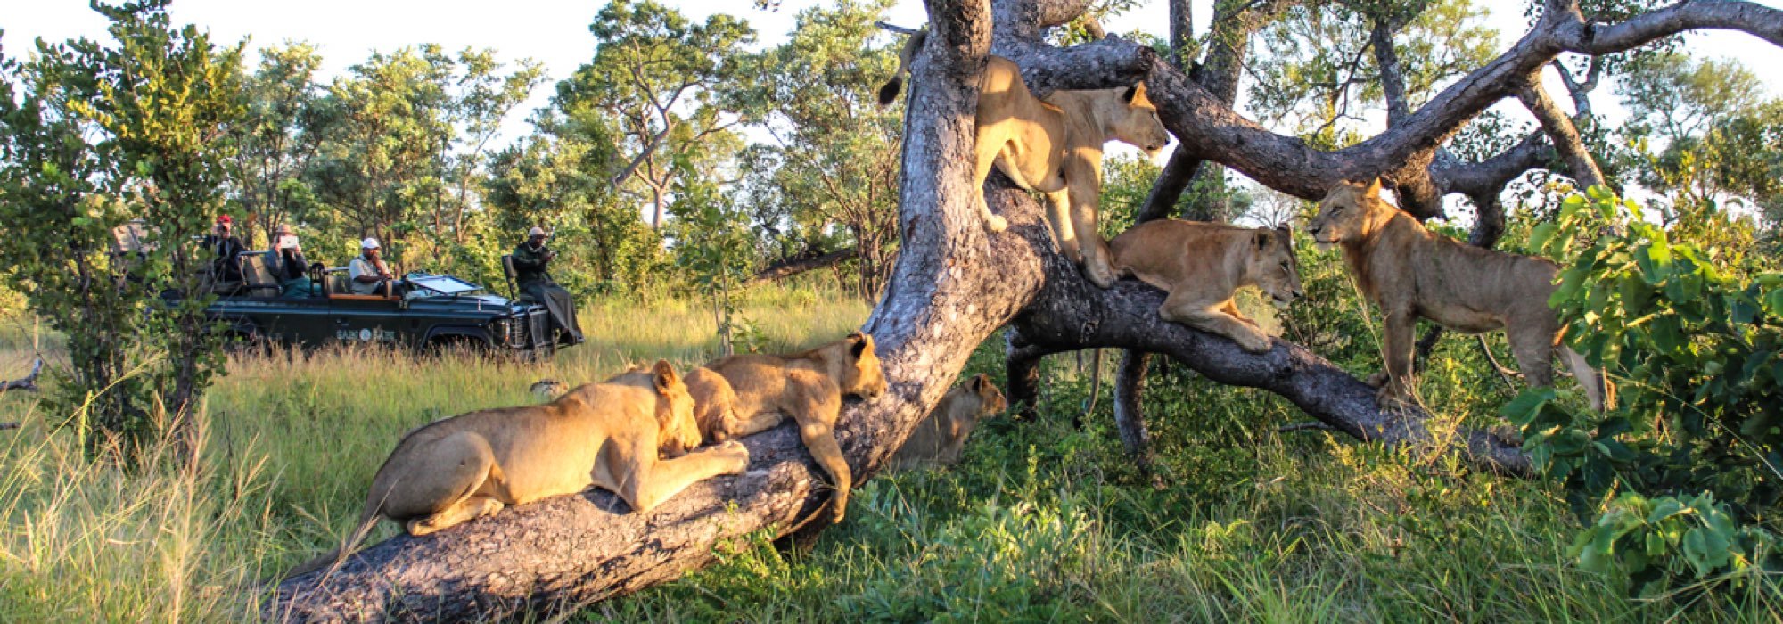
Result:
M774 139L744 155L751 219L768 259L854 248L849 282L877 300L897 255L902 103L875 89L897 46L874 45L890 0L843 0L799 12L786 43L751 59L729 98Z

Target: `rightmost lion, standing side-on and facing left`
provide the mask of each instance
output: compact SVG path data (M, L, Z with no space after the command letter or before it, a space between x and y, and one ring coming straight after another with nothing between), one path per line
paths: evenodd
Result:
M1334 185L1307 234L1321 248L1343 248L1350 273L1385 316L1387 371L1371 378L1384 401L1412 389L1412 330L1425 317L1469 333L1503 328L1517 369L1533 385L1553 383L1558 348L1590 406L1603 410L1603 376L1560 346L1560 319L1548 307L1558 269L1553 262L1432 234L1380 200L1380 178Z

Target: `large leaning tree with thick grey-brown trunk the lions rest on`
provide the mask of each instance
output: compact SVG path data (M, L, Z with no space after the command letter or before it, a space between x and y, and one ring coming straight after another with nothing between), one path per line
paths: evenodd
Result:
M1398 184L1409 212L1428 214L1441 209L1442 194L1466 189L1446 177L1451 169L1437 162L1437 150L1501 100L1546 109L1537 116L1560 143L1558 152L1571 155L1571 173L1594 177L1594 164L1583 168L1589 153L1578 148L1576 128L1555 114L1533 80L1560 53L1615 53L1692 29L1744 30L1783 45L1783 11L1747 2L1687 2L1599 23L1587 21L1576 2L1549 0L1510 50L1407 111L1385 132L1341 150L1318 150L1239 116L1150 46L1102 39L1061 50L1043 41L1045 29L1070 21L1084 5L927 2L931 34L916 55L904 125L904 248L886 294L863 326L879 341L890 389L849 406L836 428L856 480L879 471L941 398L966 355L1006 324L1016 373L1031 371L1023 362L1061 349L1163 353L1211 380L1275 392L1362 440L1435 440L1425 414L1382 412L1371 387L1300 346L1275 341L1268 353L1243 353L1230 341L1161 321L1155 310L1163 294L1155 289L1132 282L1107 291L1089 285L1054 251L1039 207L995 177L988 200L1011 218L1011 228L986 235L972 207L968 164L975 86L990 52L1016 61L1038 93L1146 80L1187 155L1230 166L1271 189L1318 198L1339 180L1384 175ZM1032 390L1032 378L1011 378L1013 396ZM574 610L704 565L715 547L733 538L801 531L797 521L826 494L813 487L820 478L797 437L777 428L745 444L751 472L694 485L651 513L633 513L606 492L588 492L424 538L398 537L332 576L287 579L267 615L467 619ZM1521 451L1489 435L1462 430L1453 444L1478 464L1528 471Z

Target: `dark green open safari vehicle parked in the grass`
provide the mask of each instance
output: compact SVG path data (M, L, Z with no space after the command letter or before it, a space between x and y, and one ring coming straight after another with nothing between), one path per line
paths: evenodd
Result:
M292 346L389 342L405 348L471 346L551 357L556 341L546 307L483 292L449 276L410 273L407 296L355 294L346 269L310 267L310 296L282 298L259 262L242 255L246 283L207 312L248 341Z

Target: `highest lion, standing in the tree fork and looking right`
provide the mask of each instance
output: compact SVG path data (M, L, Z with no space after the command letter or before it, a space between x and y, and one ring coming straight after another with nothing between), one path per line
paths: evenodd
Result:
M916 32L899 53L899 68L879 87L879 103L892 103L909 71L909 61L922 48L927 30ZM1097 230L1097 205L1102 200L1102 144L1122 141L1152 159L1170 143L1170 130L1157 118L1157 105L1145 84L1116 89L1056 91L1039 100L1022 82L1022 68L991 55L979 78L979 109L974 130L972 187L979 193L979 216L991 234L1009 221L991 214L984 200L984 178L991 166L1018 187L1047 196L1047 221L1052 223L1059 251L1084 267L1098 287L1114 285L1107 242Z

